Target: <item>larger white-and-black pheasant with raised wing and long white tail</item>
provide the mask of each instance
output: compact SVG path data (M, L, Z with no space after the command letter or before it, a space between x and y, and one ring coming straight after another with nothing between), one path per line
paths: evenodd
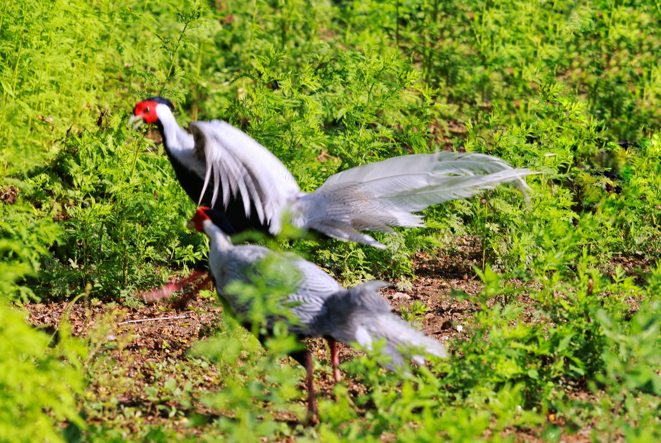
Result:
M132 121L155 123L186 193L223 217L228 234L255 228L278 234L284 217L302 230L385 248L364 230L424 226L413 213L535 174L479 153L410 154L338 172L312 193L268 149L225 121L194 121L190 134L161 97L139 102ZM525 195L525 192L524 192Z

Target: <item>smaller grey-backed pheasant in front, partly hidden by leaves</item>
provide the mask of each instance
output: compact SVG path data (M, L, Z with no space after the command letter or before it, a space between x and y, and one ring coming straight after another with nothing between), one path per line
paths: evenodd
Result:
M402 349L409 349L413 354L422 349L436 357L447 357L446 349L438 341L426 337L420 331L391 313L391 306L376 292L376 289L389 286L380 281L370 281L351 289L344 289L323 269L314 263L293 254L274 252L264 246L241 245L234 246L229 236L217 225L221 218L218 211L200 207L189 222L190 228L204 232L209 237L209 269L214 279L219 296L227 302L228 311L239 317L243 325L251 330L249 316L253 300L239 297L230 288L231 283L240 281L251 284L251 276L260 275L260 261L270 258L277 265L278 275L293 277L291 293L284 300L273 300L276 303L262 303L262 306L280 304L282 308L293 314L289 331L298 339L304 337L325 337L331 348L331 362L334 378L340 381L338 357L335 341L352 345L358 343L368 349L375 342L383 340L381 352L389 355L391 361L385 364L390 370L401 368L405 359ZM276 287L272 275L262 275L266 287ZM268 295L272 297L272 295ZM282 318L282 312L266 314L266 330L270 331L273 324ZM258 337L264 341L266 337ZM315 392L313 386L313 362L307 350L295 351L290 354L307 371L307 388L309 392L308 411L311 419L317 413ZM422 355L413 355L413 360L424 364Z

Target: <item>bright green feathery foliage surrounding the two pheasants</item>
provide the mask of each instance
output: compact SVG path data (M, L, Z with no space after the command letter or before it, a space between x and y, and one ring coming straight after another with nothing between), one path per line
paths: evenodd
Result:
M183 126L240 127L304 191L440 149L541 172L527 178L530 203L502 186L438 205L426 228L377 234L387 250L270 242L345 285L397 279L405 290L414 254L452 255L469 239L484 289L453 296L475 307L471 339L406 374L348 362L367 392L352 399L338 385L322 424L297 428L274 414L302 413L290 401L300 374L280 364L286 328L264 353L227 320L194 350L223 390L181 391L219 417L191 439L477 442L533 429L559 441L591 426L595 441L658 440L660 26L648 0L2 2L0 442L183 438L87 428L98 343L69 337L66 318L46 335L21 310L81 293L136 308L137 291L204 266L204 237L185 228L195 205L157 131L126 125L153 95L175 102ZM613 256L648 267L606 273ZM268 295L257 286L239 290ZM562 420L549 424L551 413Z

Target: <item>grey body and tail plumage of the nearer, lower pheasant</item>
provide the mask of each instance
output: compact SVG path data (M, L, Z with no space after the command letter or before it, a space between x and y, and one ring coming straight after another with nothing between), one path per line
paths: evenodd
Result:
M229 238L210 220L204 221L204 232L210 237L209 265L217 290L237 314L249 306L243 305L224 290L233 281L248 281L248 272L268 254L276 254L262 246L233 246ZM342 343L359 343L372 347L374 341L385 339L383 352L392 357L394 366L404 359L398 347L424 349L431 355L446 357L445 348L438 341L412 329L407 322L391 314L383 296L375 291L387 284L371 281L352 289L344 289L315 264L290 254L280 256L286 265L299 272L297 289L286 302L297 302L290 309L298 322L290 330L309 337L332 337ZM283 269L287 269L284 266ZM275 317L270 318L276 320ZM424 362L417 355L414 360ZM389 366L393 368L393 366Z

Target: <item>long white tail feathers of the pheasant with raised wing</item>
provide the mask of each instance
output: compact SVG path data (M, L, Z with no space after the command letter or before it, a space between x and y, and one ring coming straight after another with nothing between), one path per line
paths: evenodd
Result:
M523 177L535 174L479 153L412 154L358 166L331 176L315 192L299 197L298 224L340 240L383 248L359 230L424 226L412 212L482 189L513 182L525 193Z

